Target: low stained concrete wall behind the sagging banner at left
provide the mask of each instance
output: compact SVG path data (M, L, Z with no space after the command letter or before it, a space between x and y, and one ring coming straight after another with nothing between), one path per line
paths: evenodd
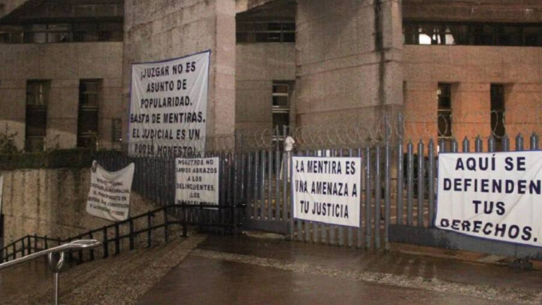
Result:
M64 239L113 223L86 213L90 169L28 169L1 174L4 244L27 234ZM132 193L131 215L154 208Z

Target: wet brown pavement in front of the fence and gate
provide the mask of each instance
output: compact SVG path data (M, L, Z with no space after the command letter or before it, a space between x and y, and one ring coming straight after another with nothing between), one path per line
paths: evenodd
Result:
M541 287L505 266L208 237L138 304L542 304Z

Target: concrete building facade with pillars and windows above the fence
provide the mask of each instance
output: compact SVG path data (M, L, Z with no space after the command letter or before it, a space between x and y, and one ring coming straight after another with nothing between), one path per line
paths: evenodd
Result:
M4 0L0 131L121 148L131 64L206 49L207 136L399 112L412 138L542 131L536 0Z

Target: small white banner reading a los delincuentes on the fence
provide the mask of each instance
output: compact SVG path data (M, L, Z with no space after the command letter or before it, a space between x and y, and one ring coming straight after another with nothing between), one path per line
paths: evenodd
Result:
M218 157L175 160L176 204L218 205Z

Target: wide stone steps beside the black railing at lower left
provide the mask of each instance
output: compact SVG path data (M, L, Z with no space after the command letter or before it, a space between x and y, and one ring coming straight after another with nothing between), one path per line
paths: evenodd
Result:
M205 240L203 234L188 238L179 235L171 234L167 244L157 243L151 248L121 253L64 270L60 276L61 304L135 304L139 297ZM20 274L20 269L0 274L0 292L4 290L1 286L8 285L1 279L9 278L9 273ZM31 285L18 287L16 294L1 295L0 304L52 304L52 277L49 275L40 276L41 279Z

